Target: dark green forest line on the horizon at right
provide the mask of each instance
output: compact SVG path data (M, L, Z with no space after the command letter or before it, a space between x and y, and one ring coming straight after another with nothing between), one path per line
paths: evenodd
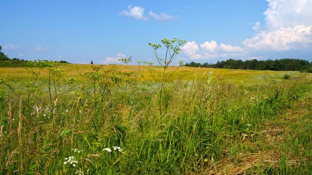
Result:
M242 69L242 70L299 70L312 72L312 64L308 60L303 59L276 59L258 61L254 60L234 60L228 59L226 61L218 61L217 63L186 63L188 67L201 68L224 68L224 69Z

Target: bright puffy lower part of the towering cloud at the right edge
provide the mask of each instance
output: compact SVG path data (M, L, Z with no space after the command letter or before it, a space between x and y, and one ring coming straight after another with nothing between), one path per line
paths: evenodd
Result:
M261 31L257 35L245 39L243 43L253 50L287 51L290 49L304 49L312 43L312 25L281 27L271 32Z

